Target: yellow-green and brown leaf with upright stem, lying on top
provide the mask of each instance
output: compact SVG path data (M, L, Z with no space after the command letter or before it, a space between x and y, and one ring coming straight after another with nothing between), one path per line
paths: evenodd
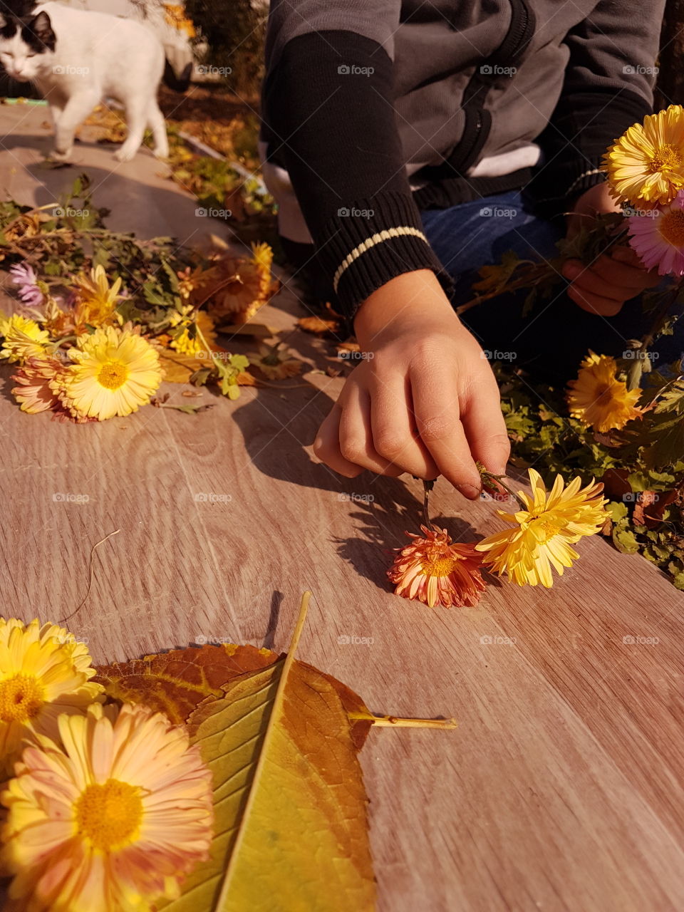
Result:
M208 862L167 912L365 912L375 906L367 798L337 689L286 658L229 681L192 714L214 776Z

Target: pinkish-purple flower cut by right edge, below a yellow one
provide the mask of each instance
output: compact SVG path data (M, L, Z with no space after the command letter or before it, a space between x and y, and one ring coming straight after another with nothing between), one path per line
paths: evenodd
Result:
M658 275L684 275L684 191L665 206L627 220L629 244Z

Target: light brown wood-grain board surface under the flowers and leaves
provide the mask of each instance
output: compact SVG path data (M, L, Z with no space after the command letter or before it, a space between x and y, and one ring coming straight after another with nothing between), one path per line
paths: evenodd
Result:
M44 119L0 109L0 175L21 202L78 173L39 169ZM77 158L115 227L181 242L206 229L149 152L119 165L83 143ZM420 525L420 483L349 482L311 456L348 368L294 329L298 297L291 283L259 320L321 372L234 403L204 391L192 401L214 408L197 416L26 416L0 368L5 615L64 620L97 662L222 638L283 649L309 588L299 658L374 711L460 721L371 731L361 753L383 912L681 912L684 597L597 537L551 591L492 581L458 610L392 596L389 552ZM466 541L497 528L492 502L443 481L432 513ZM78 608L91 549L115 530Z

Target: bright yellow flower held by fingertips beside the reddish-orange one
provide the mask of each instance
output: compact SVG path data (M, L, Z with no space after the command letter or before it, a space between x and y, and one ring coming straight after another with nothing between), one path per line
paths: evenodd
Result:
M554 585L552 568L559 576L564 567L572 566L579 554L570 547L583 535L596 534L606 522L606 499L601 496L603 484L592 479L585 488L579 478L565 488L560 475L546 494L544 482L534 469L530 475L533 496L519 492L525 509L517 513L497 510L512 529L490 535L476 545L486 552L483 563L491 565L498 575L507 574L517 586Z

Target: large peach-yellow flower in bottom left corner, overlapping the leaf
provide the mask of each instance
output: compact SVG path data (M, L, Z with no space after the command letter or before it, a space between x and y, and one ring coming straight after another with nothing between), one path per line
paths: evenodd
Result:
M2 794L3 863L23 912L147 912L212 839L212 773L185 728L124 704L60 716ZM63 745L63 747L61 746Z

